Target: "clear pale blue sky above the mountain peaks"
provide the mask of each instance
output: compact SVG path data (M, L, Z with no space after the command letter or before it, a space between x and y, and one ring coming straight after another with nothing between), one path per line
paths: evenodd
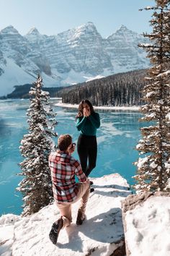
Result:
M41 34L57 35L93 22L103 38L121 25L138 33L151 31L151 12L138 9L153 6L153 0L0 0L0 30L13 25L25 35L37 27Z

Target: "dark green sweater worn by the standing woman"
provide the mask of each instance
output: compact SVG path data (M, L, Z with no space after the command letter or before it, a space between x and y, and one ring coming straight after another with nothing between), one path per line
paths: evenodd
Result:
M99 114L94 112L90 116L81 116L76 120L76 127L82 135L95 136L100 126Z

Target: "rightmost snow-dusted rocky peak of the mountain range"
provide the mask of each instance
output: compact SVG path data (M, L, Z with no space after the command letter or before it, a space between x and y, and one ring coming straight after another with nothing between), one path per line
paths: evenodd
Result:
M146 42L142 35L138 35L122 25L104 41L107 54L112 61L114 71L125 72L148 67L148 59L138 43Z

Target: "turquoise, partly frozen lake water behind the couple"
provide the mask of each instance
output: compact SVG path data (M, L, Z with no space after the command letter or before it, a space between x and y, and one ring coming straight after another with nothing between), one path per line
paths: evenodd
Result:
M79 132L75 127L76 109L55 106L56 99L51 99L53 110L57 112L58 135L69 133L73 142L77 141ZM0 216L1 214L22 212L22 195L15 189L22 179L17 176L22 161L19 153L20 140L28 133L26 111L29 100L0 101ZM119 173L129 184L133 184L135 174L133 162L138 159L135 145L140 139L138 111L100 110L101 127L97 131L98 156L97 167L91 177ZM78 159L77 153L73 156Z

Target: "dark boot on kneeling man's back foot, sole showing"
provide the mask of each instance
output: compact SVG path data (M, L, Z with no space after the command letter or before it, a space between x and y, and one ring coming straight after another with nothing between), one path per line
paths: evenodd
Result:
M50 230L49 238L53 244L57 243L58 234L60 233L62 228L63 228L63 219L61 217L58 219L58 221L55 221L53 223L52 228Z

